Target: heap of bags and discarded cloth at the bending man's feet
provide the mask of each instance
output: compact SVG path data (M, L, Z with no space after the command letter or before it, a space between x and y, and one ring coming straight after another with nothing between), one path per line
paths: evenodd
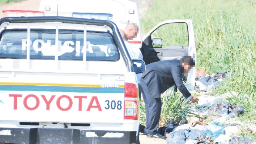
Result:
M234 93L234 92L233 92ZM235 93L234 93L235 94ZM255 140L238 136L241 127L256 134L256 122L250 124L237 120L243 114L242 105L232 105L225 100L226 93L221 96L199 96L197 105L189 105L191 113L198 117L189 117L190 123L181 121L177 124L170 120L158 129L158 133L167 137L167 144L255 144ZM201 121L208 121L208 123Z

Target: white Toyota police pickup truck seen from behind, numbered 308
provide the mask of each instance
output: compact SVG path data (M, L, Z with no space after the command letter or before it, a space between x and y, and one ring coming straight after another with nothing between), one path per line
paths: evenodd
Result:
M1 18L0 143L136 143L144 71L114 22Z

